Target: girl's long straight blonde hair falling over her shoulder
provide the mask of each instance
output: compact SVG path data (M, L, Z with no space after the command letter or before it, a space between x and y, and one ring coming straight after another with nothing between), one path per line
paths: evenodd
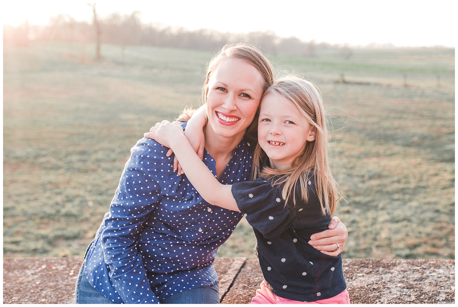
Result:
M305 143L302 154L294 159L289 169L283 171L270 167L262 169L267 155L258 144L254 152L253 177L271 178L275 176L274 186L283 185L283 198L288 203L292 195L295 205L296 195L294 192L297 189L300 189L302 199L308 200L307 182L309 177L313 175L322 214L333 215L340 196L340 189L338 189L333 178L328 162L329 133L322 97L313 83L294 75L278 79L264 92L262 99L272 92L277 92L293 102L300 113L316 128L316 136L314 141Z

